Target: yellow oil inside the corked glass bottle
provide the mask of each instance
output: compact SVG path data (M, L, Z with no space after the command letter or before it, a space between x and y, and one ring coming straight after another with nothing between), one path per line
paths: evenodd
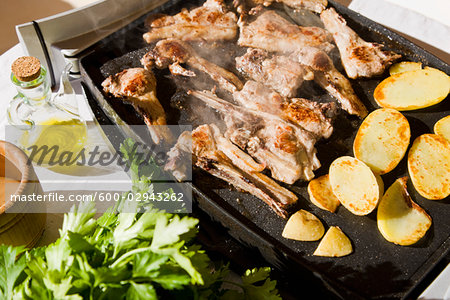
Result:
M49 119L41 122L21 138L25 152L37 164L74 166L85 147L86 125L78 119Z

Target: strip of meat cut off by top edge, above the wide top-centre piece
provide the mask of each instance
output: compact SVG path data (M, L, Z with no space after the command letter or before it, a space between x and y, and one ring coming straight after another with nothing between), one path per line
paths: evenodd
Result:
M327 0L234 0L233 6L239 13L246 13L257 5L270 6L273 2L284 3L294 9L307 9L321 13L328 5Z

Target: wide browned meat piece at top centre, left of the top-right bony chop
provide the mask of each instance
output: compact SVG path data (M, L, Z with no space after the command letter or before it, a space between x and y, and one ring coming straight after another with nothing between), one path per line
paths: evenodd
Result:
M329 51L332 37L319 27L294 25L272 10L261 13L251 23L240 23L239 46L264 49L270 52L294 52L312 46Z

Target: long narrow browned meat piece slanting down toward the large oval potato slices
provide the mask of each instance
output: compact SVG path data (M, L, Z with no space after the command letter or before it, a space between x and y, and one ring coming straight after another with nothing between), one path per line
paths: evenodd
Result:
M325 52L306 47L291 57L314 70L314 80L341 103L342 109L360 118L367 115L367 109L356 96L350 81L335 68Z

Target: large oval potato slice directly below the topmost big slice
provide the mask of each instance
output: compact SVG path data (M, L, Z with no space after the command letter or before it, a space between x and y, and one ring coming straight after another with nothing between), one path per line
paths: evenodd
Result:
M359 127L353 153L374 173L386 174L402 160L409 145L408 120L391 108L371 112Z

